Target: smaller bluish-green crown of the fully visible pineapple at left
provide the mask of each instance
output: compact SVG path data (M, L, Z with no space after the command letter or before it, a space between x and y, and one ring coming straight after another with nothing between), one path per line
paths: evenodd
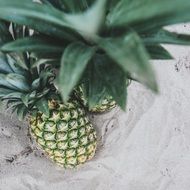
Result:
M8 37L1 38L1 42L29 35L27 28L18 25L0 22L0 26L7 29ZM0 99L6 100L20 120L35 111L49 114L48 100L56 96L56 90L52 83L55 74L47 63L48 60L36 59L29 53L0 52Z

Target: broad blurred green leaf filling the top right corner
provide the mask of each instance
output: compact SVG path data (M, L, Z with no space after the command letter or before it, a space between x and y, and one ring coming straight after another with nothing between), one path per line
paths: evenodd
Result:
M145 22L153 25L190 20L189 0L121 0L108 16L108 25L130 26Z

